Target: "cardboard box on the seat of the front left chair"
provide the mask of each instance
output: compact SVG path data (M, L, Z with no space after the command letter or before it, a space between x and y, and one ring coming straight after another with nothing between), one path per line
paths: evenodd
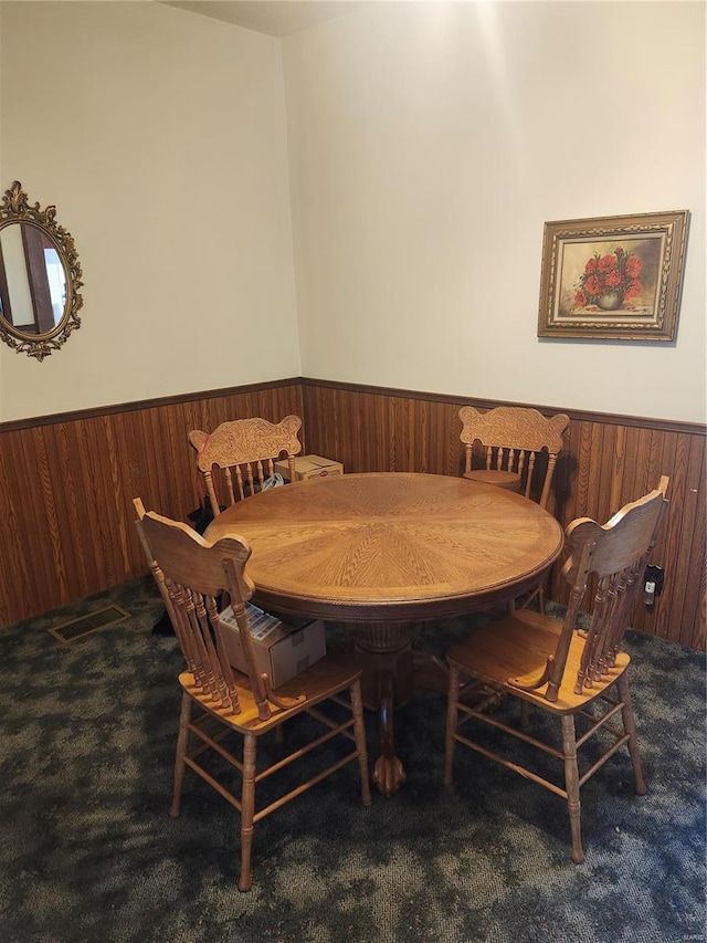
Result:
M279 688L326 654L324 622L318 620L299 627L288 626L251 603L245 605L255 643L255 659L260 670L270 674L273 688ZM239 671L245 672L241 633L230 606L221 612L221 625L225 629L229 661Z

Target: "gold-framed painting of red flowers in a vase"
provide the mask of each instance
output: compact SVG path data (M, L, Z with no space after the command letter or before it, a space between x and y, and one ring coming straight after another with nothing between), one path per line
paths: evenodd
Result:
M538 336L674 340L688 217L546 222Z

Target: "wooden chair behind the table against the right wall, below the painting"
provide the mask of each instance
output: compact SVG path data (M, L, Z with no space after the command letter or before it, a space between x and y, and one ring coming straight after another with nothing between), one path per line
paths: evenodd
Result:
M547 507L569 416L559 412L548 419L537 409L498 406L479 412L463 406L460 419L464 478L507 488ZM484 453L482 468L474 468L477 442Z

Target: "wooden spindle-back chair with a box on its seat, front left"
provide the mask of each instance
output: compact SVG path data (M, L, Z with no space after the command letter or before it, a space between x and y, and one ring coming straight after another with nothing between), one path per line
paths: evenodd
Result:
M135 500L137 528L150 569L169 611L186 661L179 675L182 688L181 716L177 738L171 815L178 816L186 767L193 769L241 814L241 873L239 889L252 886L251 849L256 822L285 803L320 783L326 776L357 762L361 799L371 801L361 670L348 656L326 654L292 681L274 690L267 673L258 670L251 635L246 601L253 593L245 565L251 555L247 543L233 535L208 543L191 527L152 512ZM228 593L235 615L247 672L229 663L217 598ZM324 702L335 702L329 709ZM285 756L258 764L257 743L265 734L298 714L316 721L316 736ZM324 729L324 733L320 730ZM235 738L240 756L229 748ZM257 808L258 784L288 767L334 737L344 737L347 751L335 762L328 756L306 782L291 787L279 798ZM215 778L203 765L203 756L217 753L240 774L240 793L230 783ZM260 766L260 768L258 768ZM312 772L312 771L309 771ZM232 774L231 774L232 775ZM229 779L231 777L229 776Z

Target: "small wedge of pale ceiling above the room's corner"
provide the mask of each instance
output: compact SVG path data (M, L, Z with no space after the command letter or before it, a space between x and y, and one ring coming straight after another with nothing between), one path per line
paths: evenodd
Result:
M300 30L344 17L377 0L161 0L202 17L234 23L271 36L288 36Z

